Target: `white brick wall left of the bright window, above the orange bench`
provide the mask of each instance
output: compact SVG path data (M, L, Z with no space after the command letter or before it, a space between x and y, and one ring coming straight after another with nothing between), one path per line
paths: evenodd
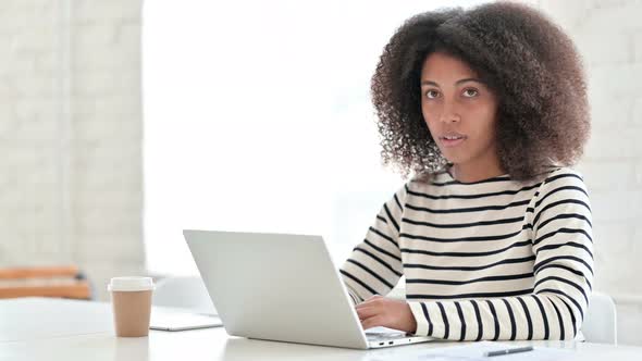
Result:
M141 0L0 2L0 266L141 274Z

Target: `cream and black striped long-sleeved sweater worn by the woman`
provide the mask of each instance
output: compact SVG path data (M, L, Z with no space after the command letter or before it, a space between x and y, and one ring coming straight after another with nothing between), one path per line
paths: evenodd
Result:
M402 276L417 335L449 340L571 339L593 279L581 175L407 182L341 267L355 303Z

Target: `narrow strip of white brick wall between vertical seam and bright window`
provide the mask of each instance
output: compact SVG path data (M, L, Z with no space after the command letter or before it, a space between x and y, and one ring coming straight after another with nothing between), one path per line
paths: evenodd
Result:
M74 253L106 298L110 276L145 273L141 0L71 7Z

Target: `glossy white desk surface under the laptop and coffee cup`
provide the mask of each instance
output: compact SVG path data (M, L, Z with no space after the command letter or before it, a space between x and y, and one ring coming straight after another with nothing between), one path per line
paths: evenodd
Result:
M0 300L0 360L416 360L429 349L462 345L427 343L351 350L231 337L223 327L150 331L148 337L124 338L114 336L111 318L111 306L104 302ZM640 347L576 341L510 344L575 350L569 352L573 360L642 360Z

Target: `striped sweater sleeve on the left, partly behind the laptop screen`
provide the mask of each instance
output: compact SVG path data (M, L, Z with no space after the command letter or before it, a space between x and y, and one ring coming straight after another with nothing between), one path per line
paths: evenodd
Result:
M382 206L366 238L339 269L355 303L373 295L386 295L402 277L398 238L406 195L404 185Z

